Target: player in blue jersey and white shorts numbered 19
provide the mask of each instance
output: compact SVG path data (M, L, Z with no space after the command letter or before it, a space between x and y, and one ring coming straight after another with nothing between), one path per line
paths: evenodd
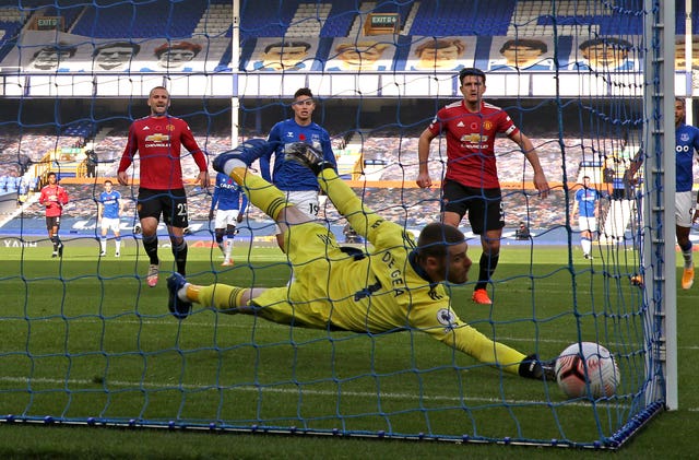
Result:
M286 199L298 207L310 219L318 216L320 187L313 174L294 162L284 162L284 146L292 142L305 142L313 149L322 151L323 158L336 168L335 154L330 143L330 134L311 119L316 102L313 93L301 87L294 94L292 110L294 118L280 121L272 127L268 141L273 151L260 157L260 174L286 194ZM270 173L270 164L274 157L274 169ZM283 233L279 229L276 241L284 248Z

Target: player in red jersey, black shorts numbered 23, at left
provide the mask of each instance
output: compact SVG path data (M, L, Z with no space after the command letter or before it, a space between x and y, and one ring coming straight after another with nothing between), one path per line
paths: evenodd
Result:
M173 255L177 272L185 275L187 267L187 241L185 228L189 225L187 194L182 182L180 151L183 145L197 166L198 181L209 187L206 156L199 149L187 122L168 115L170 95L164 86L151 90L147 101L151 115L138 119L129 128L129 140L123 150L117 178L122 186L129 185L127 169L133 163L137 152L141 154L141 173L138 198L139 220L143 233L143 248L151 264L146 281L155 287L159 272L157 257L157 224L163 215L173 243Z

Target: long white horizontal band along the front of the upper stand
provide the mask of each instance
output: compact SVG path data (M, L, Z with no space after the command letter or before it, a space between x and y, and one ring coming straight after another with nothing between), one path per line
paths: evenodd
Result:
M687 96L686 72L675 73L677 96ZM292 97L308 86L321 97L460 97L455 72L217 72L0 74L5 97L145 97L166 85L179 97ZM639 97L642 73L493 72L488 97ZM699 96L699 87L694 87Z

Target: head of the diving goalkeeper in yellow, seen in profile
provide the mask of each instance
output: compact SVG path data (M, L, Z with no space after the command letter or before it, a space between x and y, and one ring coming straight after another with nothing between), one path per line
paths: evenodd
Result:
M434 282L463 284L469 280L469 245L459 228L435 222L417 238L417 262Z

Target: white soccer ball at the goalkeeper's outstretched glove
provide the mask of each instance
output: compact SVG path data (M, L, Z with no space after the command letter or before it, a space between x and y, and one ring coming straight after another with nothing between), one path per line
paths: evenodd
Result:
M614 356L594 342L568 346L556 359L555 371L556 381L568 398L611 397L620 382Z

